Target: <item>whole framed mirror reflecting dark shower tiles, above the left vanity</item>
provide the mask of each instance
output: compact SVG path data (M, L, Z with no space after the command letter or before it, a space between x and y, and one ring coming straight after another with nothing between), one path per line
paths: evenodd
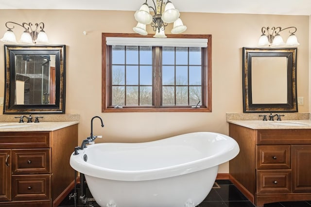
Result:
M65 45L5 45L3 114L65 113Z

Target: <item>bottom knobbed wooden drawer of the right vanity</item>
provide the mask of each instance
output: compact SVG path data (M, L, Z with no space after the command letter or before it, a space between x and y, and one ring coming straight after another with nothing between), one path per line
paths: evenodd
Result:
M257 170L257 193L291 192L291 170Z

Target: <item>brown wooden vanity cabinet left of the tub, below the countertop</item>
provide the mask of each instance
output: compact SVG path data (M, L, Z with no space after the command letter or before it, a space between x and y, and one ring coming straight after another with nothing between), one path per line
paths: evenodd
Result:
M57 207L73 187L78 125L0 132L0 207Z

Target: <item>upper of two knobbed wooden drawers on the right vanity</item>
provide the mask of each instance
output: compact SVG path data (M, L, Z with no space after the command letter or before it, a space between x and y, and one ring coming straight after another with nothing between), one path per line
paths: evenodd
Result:
M291 145L256 145L257 169L290 169Z

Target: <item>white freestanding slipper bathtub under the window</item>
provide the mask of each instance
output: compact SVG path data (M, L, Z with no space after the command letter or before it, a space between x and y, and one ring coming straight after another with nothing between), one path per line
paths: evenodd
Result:
M212 132L147 143L96 143L71 155L101 207L195 207L211 190L218 165L239 145ZM87 159L85 161L85 159Z

